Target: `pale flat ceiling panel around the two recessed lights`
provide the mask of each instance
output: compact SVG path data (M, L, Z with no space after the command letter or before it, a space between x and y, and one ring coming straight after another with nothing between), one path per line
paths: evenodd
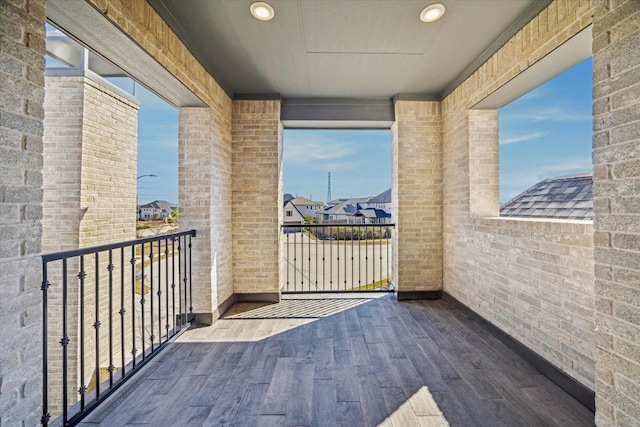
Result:
M441 98L549 0L440 0L421 22L433 2L271 0L262 22L251 0L149 0L227 93L287 98Z

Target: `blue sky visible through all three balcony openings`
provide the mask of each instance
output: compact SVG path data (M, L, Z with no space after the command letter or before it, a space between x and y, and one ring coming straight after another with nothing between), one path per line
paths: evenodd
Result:
M138 181L142 203L178 200L178 111L136 86L140 100ZM500 201L536 182L590 172L591 59L500 109ZM374 196L391 186L389 130L284 132L284 192L326 202Z

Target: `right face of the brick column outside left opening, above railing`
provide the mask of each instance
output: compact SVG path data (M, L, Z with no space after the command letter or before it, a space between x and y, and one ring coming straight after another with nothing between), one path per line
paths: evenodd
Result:
M84 81L80 246L135 239L139 106Z

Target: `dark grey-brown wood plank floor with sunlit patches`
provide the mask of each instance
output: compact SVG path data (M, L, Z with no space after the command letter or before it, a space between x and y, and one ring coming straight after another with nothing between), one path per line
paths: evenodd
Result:
M442 300L285 298L187 331L81 425L594 425Z

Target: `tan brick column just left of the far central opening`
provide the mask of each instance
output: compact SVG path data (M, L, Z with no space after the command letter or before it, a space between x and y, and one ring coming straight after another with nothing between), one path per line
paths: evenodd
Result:
M279 300L280 101L233 102L233 273L240 300Z

